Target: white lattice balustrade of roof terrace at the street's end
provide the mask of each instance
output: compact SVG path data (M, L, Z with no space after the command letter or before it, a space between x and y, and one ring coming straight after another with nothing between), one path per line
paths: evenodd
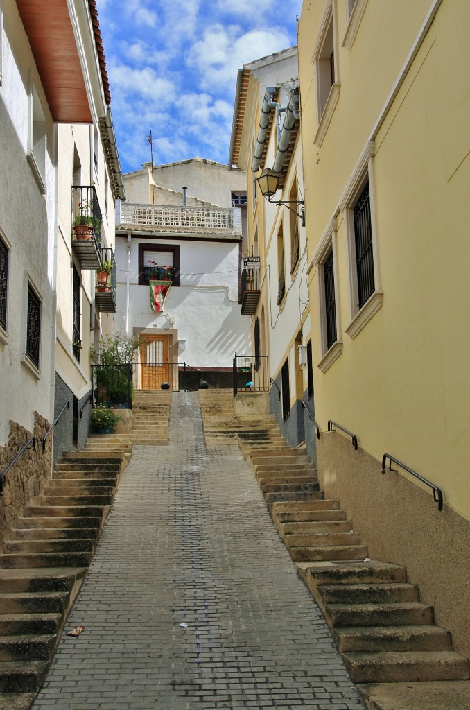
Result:
M173 204L132 204L116 206L116 225L139 226L151 231L227 231L241 234L239 207L183 207Z

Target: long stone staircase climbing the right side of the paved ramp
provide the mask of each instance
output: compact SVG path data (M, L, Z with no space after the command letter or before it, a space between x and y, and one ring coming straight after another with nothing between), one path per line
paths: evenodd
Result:
M432 606L420 601L405 567L368 559L339 501L319 490L305 449L290 449L275 434L273 417L264 426L259 417L234 417L227 393L207 391L200 399L209 442L239 438L273 523L366 707L469 710L469 661L452 650L451 634L435 625ZM250 425L251 436L245 434Z

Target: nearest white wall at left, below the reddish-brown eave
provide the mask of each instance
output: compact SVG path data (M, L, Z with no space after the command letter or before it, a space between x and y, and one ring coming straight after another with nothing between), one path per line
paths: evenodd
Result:
M28 430L33 413L53 415L53 268L55 239L55 132L16 4L3 1L0 88L0 231L9 244L8 322L0 332L0 444L9 420ZM28 87L35 81L47 121L45 193L26 157ZM41 307L40 368L25 364L27 278Z

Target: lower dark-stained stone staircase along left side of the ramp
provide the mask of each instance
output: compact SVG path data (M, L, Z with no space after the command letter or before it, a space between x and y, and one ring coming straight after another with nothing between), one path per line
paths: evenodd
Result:
M122 454L65 455L4 541L0 710L28 709L42 686L125 465Z

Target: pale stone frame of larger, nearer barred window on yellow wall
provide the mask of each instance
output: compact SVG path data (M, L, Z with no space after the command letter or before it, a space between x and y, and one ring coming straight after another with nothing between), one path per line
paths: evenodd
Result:
M361 153L356 167L349 178L346 190L344 190L339 202L339 209L344 213L344 229L346 236L346 261L348 275L349 293L349 318L350 322L346 327L346 333L354 339L364 326L371 320L373 315L382 307L383 290L381 288L381 274L378 268L378 237L376 218L376 192L374 179L375 143L368 141ZM371 297L359 309L359 293L357 286L356 269L356 239L354 234L354 205L366 183L369 184L371 201L371 229L372 229L372 253L373 253L373 279L375 290Z

